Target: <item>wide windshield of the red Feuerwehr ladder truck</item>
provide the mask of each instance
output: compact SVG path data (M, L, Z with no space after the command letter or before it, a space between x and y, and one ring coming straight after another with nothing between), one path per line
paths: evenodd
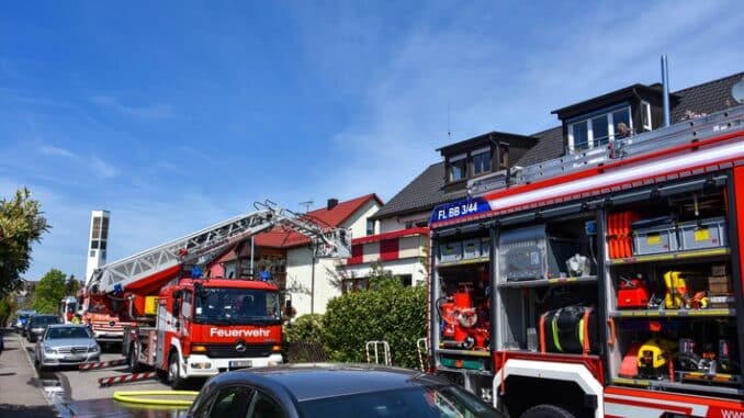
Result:
M206 289L198 296L199 323L267 324L280 320L279 293L252 289Z

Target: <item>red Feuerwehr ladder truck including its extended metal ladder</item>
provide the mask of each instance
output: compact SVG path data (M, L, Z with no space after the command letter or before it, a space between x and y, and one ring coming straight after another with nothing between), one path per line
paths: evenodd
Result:
M308 236L318 258L347 258L351 231L319 225L268 201L256 208L95 270L88 295L109 300L106 306L117 304L111 314L132 321L120 335L131 369L153 366L181 387L191 377L282 362L278 286L249 280L253 278L202 278L202 267L279 225Z

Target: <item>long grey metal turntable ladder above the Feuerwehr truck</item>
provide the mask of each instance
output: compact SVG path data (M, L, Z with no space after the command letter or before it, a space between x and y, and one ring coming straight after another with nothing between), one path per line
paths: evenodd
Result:
M204 264L221 250L277 225L311 238L318 258L348 258L351 231L320 225L304 214L281 208L271 201L253 204L256 212L239 215L185 237L150 248L97 269L86 289L91 293L123 292L127 285L188 262Z

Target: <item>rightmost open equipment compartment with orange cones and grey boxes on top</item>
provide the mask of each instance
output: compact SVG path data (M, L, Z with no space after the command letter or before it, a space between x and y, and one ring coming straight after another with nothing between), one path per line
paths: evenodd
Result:
M725 193L719 178L607 212L612 383L740 396Z

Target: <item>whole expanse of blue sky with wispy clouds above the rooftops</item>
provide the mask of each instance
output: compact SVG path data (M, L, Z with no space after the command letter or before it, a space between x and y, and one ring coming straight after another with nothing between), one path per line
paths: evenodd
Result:
M113 261L257 200L387 201L436 148L552 127L658 81L661 54L673 90L741 71L743 22L733 1L8 2L0 196L29 187L53 225L25 276L81 278L91 210Z

